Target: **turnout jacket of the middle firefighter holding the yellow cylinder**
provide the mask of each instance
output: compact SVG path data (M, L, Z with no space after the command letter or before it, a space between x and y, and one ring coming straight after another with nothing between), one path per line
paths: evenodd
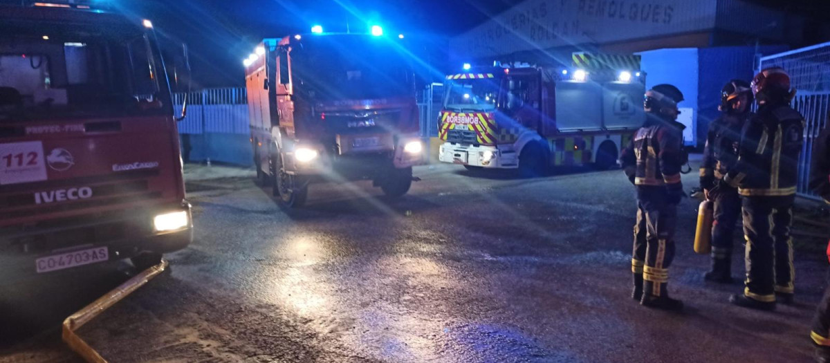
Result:
M740 132L754 114L724 114L709 124L701 162L701 188L711 189L738 162Z

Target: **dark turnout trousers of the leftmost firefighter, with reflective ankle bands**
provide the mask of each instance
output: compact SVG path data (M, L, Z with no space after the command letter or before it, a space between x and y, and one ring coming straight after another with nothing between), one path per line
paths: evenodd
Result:
M634 225L632 273L642 276L644 293L666 293L669 266L674 259L677 205L666 201L662 186L638 186L637 224Z

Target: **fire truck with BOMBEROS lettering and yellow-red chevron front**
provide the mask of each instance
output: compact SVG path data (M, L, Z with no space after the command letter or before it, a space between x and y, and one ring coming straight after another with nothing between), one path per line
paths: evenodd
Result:
M636 64L638 64L637 62ZM438 158L468 169L616 164L645 116L636 69L513 66L447 75Z

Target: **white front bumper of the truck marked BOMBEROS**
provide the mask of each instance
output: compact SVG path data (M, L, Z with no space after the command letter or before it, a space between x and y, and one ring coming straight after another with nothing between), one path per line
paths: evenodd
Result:
M496 147L443 143L438 149L438 161L494 169L519 167L519 157L513 150L512 145Z

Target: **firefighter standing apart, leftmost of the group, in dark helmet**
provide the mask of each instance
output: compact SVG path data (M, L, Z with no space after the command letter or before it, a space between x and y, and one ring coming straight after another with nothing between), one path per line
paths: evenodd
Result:
M677 104L683 94L673 85L656 85L645 95L646 122L620 157L628 180L637 189L634 225L632 298L645 307L681 310L680 300L669 298L668 268L674 259L677 205L685 196L680 179L683 126Z

